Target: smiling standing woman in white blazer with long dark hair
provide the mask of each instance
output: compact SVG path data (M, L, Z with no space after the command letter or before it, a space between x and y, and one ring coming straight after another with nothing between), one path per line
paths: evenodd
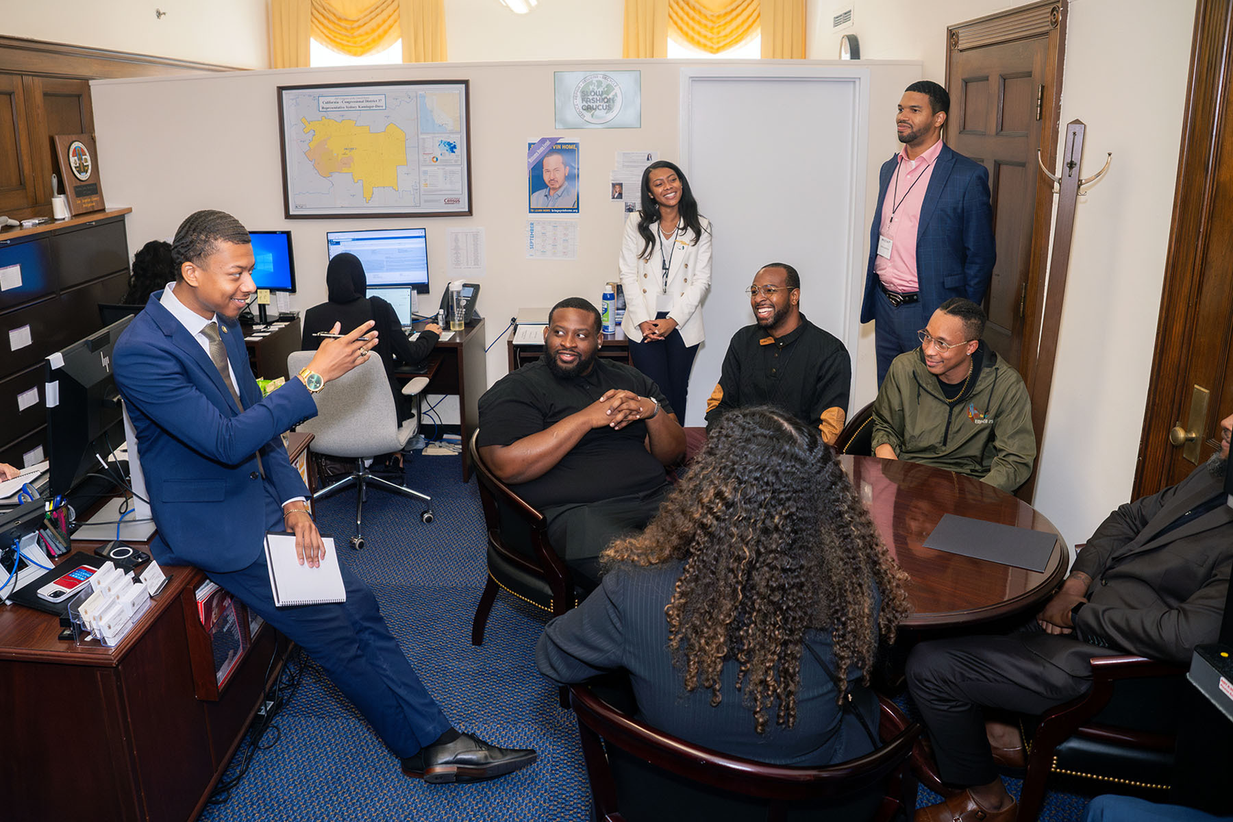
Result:
M625 221L620 282L634 367L655 381L684 424L689 371L703 340L702 301L710 290L710 222L672 163L642 173L642 208Z

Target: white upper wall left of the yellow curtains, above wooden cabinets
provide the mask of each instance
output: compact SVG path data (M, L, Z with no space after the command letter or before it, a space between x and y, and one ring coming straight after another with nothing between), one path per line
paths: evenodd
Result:
M2 33L217 63L270 64L266 0L5 0ZM155 18L154 9L166 11Z

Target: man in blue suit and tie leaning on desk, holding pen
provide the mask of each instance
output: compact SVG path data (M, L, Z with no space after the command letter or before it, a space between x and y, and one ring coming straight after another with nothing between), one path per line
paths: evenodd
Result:
M317 414L313 393L326 382L366 362L376 345L372 323L324 341L303 371L263 399L237 323L256 288L248 232L231 214L199 211L180 224L171 254L175 282L150 296L113 357L158 525L154 557L201 568L298 643L407 775L476 781L534 762L534 751L498 748L453 728L372 592L345 566L345 601L274 605L264 534L293 531L301 564L317 567L324 553L281 434Z

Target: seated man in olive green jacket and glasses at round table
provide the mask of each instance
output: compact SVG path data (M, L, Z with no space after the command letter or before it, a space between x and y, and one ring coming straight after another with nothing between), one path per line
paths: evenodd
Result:
M965 473L1006 492L1036 460L1032 403L1023 378L980 335L985 313L948 299L900 354L873 403L873 452Z

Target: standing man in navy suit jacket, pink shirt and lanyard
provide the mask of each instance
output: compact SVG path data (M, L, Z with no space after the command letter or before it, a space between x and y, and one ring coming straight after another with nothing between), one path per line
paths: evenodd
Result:
M920 345L916 333L938 306L980 304L993 276L989 173L942 142L949 108L932 80L907 86L895 117L904 148L878 176L861 322L874 322L879 386L891 360Z

